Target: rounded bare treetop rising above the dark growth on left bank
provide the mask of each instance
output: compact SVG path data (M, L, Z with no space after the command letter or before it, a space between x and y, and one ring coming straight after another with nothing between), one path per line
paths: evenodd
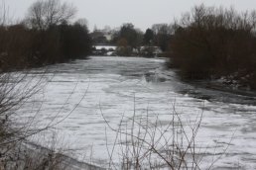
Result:
M46 30L50 26L69 22L75 15L76 9L60 0L38 0L29 9L28 23L30 27Z

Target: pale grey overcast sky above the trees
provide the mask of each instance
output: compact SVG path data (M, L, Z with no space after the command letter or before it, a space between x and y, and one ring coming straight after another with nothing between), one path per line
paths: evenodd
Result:
M2 0L3 1L3 0ZM24 18L29 6L36 0L5 0L9 15ZM239 11L256 9L256 0L62 0L72 3L78 10L76 18L86 18L89 29L104 26L119 27L133 23L143 31L152 24L171 23L194 5L233 6ZM1 0L0 0L1 2Z

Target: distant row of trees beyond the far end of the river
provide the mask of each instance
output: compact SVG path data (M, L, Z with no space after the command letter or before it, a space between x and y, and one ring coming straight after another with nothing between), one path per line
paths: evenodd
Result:
M104 29L112 35L112 40L107 41L104 35L99 30L94 30L91 33L94 44L115 44L118 46L118 55L132 55L133 51L140 53L141 46L159 46L164 52L168 50L170 40L172 38L173 28L168 24L155 24L144 32L135 28L132 23L125 23L119 29L111 30ZM150 49L150 48L148 48ZM151 55L151 52L149 55Z

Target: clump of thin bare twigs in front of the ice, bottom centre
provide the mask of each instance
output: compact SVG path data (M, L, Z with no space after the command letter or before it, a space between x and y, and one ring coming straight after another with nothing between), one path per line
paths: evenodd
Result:
M113 147L110 148L106 143L109 155L108 168L201 169L200 163L206 151L196 144L196 134L201 125L203 111L187 124L182 120L181 113L176 111L175 104L172 108L168 125L158 116L153 121L152 118L149 119L149 111L146 115L138 117L134 107L133 116L127 118L123 115L117 128L111 127L101 112L107 126L116 132ZM212 163L209 162L207 169L213 167L228 146L229 144L221 155L212 158ZM119 162L114 160L115 154L118 154Z

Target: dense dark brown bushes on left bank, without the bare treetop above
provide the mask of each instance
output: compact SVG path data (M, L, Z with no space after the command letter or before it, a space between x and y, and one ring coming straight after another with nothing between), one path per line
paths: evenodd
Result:
M78 24L63 24L43 31L23 24L1 27L0 42L2 71L86 57L91 50L88 30Z

